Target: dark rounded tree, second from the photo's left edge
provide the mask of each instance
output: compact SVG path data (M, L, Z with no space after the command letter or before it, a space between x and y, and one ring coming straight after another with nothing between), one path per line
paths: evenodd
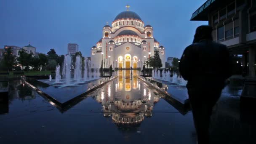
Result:
M19 64L21 64L22 69L28 70L29 69L29 65L32 59L32 54L27 53L26 50L24 50L23 48L19 51L19 57L17 58L17 60L19 61Z

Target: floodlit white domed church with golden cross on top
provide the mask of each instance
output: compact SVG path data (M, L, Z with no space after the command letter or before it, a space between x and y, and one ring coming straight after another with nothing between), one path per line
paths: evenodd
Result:
M154 37L153 28L144 26L140 16L129 11L119 13L112 22L112 27L105 25L102 30L102 38L91 48L91 66L109 68L112 67L133 69L143 67L144 60L159 51L163 68L165 68L165 48L159 46Z

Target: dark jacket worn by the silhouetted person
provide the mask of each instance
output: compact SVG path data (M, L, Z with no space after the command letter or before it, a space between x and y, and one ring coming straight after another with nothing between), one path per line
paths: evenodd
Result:
M232 75L232 59L225 45L201 40L184 50L179 71L188 80L188 88L224 88L225 80Z

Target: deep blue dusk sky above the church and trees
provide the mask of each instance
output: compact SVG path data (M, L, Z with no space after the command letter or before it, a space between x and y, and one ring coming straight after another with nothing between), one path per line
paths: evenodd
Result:
M83 56L102 36L102 28L125 11L136 12L154 29L154 37L166 48L167 57L180 58L193 40L196 27L206 21L189 21L205 0L0 0L0 48L31 45L37 52L50 48L67 53L77 43Z

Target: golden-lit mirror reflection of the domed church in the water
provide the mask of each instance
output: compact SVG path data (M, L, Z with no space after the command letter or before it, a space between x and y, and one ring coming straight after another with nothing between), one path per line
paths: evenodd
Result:
M154 104L159 101L137 77L136 70L119 70L115 84L102 88L96 100L102 104L105 117L112 116L116 124L139 124L144 116L151 117Z

